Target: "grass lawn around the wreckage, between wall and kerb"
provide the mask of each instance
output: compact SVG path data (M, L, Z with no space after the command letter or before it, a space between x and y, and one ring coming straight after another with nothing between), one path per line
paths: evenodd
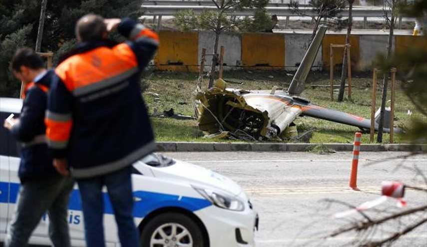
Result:
M289 72L288 72L289 74ZM293 74L293 72L291 72ZM174 109L175 113L183 115L193 115L193 90L195 88L197 74L187 72L152 72L146 76L148 89L144 92L144 99L148 105L149 112L163 112L164 110ZM287 75L286 71L225 71L224 78L242 84L228 83L227 87L240 89L271 89L274 85L279 88L287 89L292 75ZM335 84L338 84L338 77ZM377 108L381 102L381 83L377 88ZM208 80L203 84L206 89ZM354 74L352 87L352 100L344 102L331 101L329 99L328 87L312 88L312 84L329 84L329 74L327 72L311 72L306 89L302 97L310 99L311 102L359 115L365 118L371 116L371 83L372 75L368 73ZM422 117L415 110L408 97L400 90L400 81L397 81L396 103L395 103L395 125L409 126L410 119L413 117ZM390 81L389 81L390 84ZM156 96L158 94L159 96ZM390 99L390 90L389 90ZM345 94L346 95L346 94ZM337 98L337 94L335 94ZM388 106L390 102L388 103ZM407 112L414 112L408 116ZM157 141L191 141L191 142L212 142L212 141L230 141L230 140L212 140L203 138L204 133L197 127L196 120L177 120L172 118L153 117L152 123ZM313 130L310 143L352 143L354 133L359 128L334 123L330 121L315 119L311 117L299 117L295 121L299 133L307 130ZM389 141L389 134L384 134L383 141ZM395 135L395 143L405 143L404 137ZM362 136L362 143L369 143L369 133Z

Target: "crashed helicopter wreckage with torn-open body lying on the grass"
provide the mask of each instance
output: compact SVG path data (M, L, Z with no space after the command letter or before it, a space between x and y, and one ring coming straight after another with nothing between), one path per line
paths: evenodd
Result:
M213 88L197 93L200 130L210 134L226 132L253 140L281 138L290 126L295 126L293 122L297 116L310 116L370 129L370 119L327 109L298 97L304 90L304 82L326 29L321 26L317 31L287 91L276 90L276 87L271 91L226 88L225 82L219 79ZM378 123L375 128L378 130ZM390 129L384 128L384 131L390 132ZM402 129L395 128L394 131L399 133Z

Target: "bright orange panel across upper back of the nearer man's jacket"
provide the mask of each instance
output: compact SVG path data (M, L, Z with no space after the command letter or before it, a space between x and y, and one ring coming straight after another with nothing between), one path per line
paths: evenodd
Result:
M129 45L105 46L73 55L55 69L69 91L119 75L137 66Z

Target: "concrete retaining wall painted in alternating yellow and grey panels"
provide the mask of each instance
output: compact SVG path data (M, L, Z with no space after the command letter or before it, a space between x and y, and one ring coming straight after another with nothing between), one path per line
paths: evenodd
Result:
M213 32L178 32L162 30L160 48L154 64L159 70L193 71L199 69L202 48L213 53ZM296 70L309 45L307 33L224 33L219 47L225 48L224 69L286 69ZM387 51L388 35L358 34L350 37L353 71L370 70L378 53ZM412 46L424 46L422 37L397 35L393 50L405 51ZM344 34L326 34L313 69L329 70L330 44L344 44ZM218 47L218 53L219 53ZM205 71L210 68L212 56L206 57ZM334 48L334 65L340 66L343 48Z

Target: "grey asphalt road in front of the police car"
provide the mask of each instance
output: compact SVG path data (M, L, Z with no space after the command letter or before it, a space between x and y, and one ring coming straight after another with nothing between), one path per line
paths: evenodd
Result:
M358 206L380 197L382 181L402 181L408 185L424 186L427 176L427 155L405 158L403 152L365 152L360 155L358 187L348 186L352 154L338 152L329 155L280 152L209 152L164 153L228 176L240 184L251 198L260 215L260 229L256 235L257 247L282 246L357 246L366 238L380 240L390 232L403 230L414 224L427 212L393 221L375 232L351 233L324 239L340 227L360 219L358 214L342 219L335 213L348 209L324 199L339 200ZM381 162L382 161L382 162ZM427 204L427 193L407 190L404 210ZM366 211L371 219L399 212L395 200L388 200L375 210ZM354 242L356 241L356 242ZM395 246L427 246L427 224L409 233Z

